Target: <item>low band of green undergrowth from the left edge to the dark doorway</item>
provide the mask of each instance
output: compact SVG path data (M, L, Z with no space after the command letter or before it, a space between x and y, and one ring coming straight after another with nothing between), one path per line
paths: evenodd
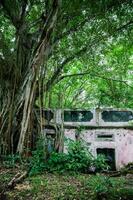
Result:
M6 168L28 168L29 175L36 175L42 172L56 173L96 173L108 170L104 155L95 158L82 141L69 141L67 153L51 152L47 157L44 141L40 138L32 156L21 158L19 155L9 155L3 159L3 166Z

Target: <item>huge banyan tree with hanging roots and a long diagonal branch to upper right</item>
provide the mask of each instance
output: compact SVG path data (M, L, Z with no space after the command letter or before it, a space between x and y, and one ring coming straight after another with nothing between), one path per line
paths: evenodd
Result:
M124 6L128 10L132 2L0 0L0 154L21 154L33 131L40 131L34 107L39 102L41 118L44 95L61 79L64 66L130 27L132 20L125 17L108 26L108 35L95 31L99 23L107 31L106 20Z

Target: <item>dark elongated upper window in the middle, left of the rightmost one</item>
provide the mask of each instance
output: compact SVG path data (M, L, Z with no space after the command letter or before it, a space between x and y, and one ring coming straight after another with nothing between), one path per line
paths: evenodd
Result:
M89 122L92 119L91 111L64 111L65 122Z

